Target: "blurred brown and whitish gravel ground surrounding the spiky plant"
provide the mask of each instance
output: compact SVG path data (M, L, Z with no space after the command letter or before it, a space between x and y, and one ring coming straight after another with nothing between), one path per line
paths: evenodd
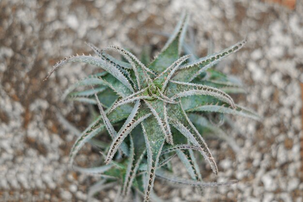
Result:
M64 89L91 70L73 63L43 82L51 66L74 53L88 53L84 42L119 45L139 53L142 45L160 49L183 9L191 13L197 51L212 39L220 50L245 36L247 46L217 67L240 78L247 95L238 103L264 117L262 123L235 118L230 131L241 151L209 140L217 160L215 179L237 179L232 186L156 191L172 202L303 202L303 3L288 8L258 0L1 0L0 1L0 201L86 201L93 179L67 170L75 140L58 122L60 112L82 130L87 106L61 100ZM89 145L79 163L95 161ZM178 168L179 172L185 172ZM116 187L100 194L110 202Z

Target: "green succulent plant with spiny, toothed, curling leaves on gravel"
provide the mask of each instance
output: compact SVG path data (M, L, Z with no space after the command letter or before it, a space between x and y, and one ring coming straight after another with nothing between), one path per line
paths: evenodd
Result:
M97 57L65 58L54 65L45 78L68 62L84 62L104 70L78 81L63 95L97 105L101 113L79 135L70 153L72 166L78 151L90 142L99 148L105 159L99 167L74 166L77 171L100 176L101 181L91 186L89 197L119 182L117 201L130 195L142 196L144 202L159 201L152 191L155 177L198 187L235 183L203 182L196 155L202 155L216 175L218 169L203 136L212 133L229 142L233 140L209 117L217 114L223 120L225 114L232 114L258 120L256 113L236 105L227 94L242 92L239 83L209 69L242 48L246 41L200 59L195 55L181 57L188 20L188 15L182 15L152 62L148 58L141 62L122 47L99 49L88 44ZM108 52L117 52L122 59ZM74 91L81 86L89 89ZM97 138L106 133L111 143ZM191 179L173 174L170 160L175 156L180 158Z

